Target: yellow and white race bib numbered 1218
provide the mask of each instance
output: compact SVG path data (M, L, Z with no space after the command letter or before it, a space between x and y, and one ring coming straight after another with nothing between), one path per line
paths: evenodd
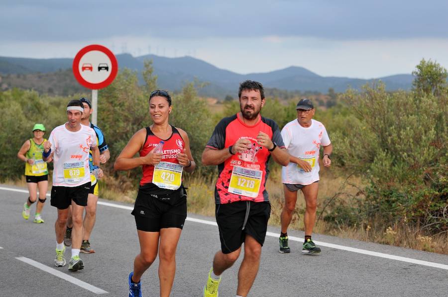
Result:
M235 165L230 176L228 192L252 198L258 197L262 177L263 171L261 170Z

